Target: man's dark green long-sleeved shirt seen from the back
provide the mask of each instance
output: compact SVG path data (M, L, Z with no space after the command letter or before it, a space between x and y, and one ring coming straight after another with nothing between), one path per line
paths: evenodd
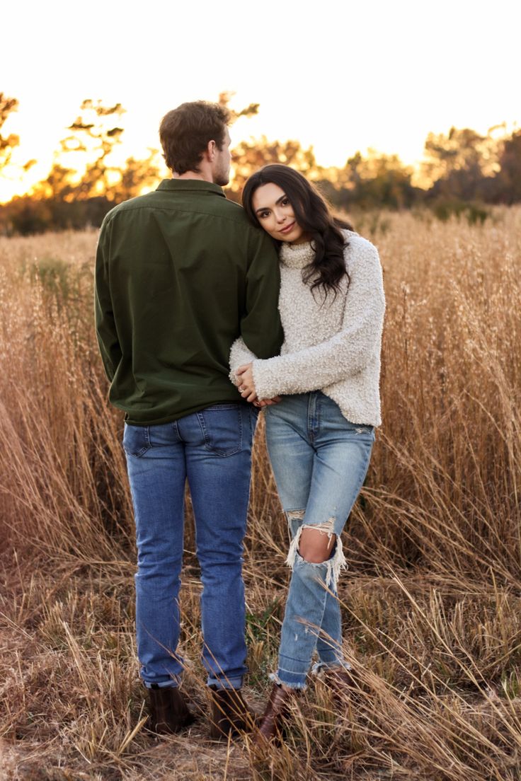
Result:
M278 355L277 251L216 184L164 180L105 217L96 254L98 344L109 398L148 425L240 401L228 378L242 336Z

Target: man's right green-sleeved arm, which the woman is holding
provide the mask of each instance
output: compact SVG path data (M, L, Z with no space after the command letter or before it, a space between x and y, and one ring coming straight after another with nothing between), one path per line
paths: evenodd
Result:
M278 309L280 269L277 250L261 230L248 237L246 306L241 318L241 337L258 358L278 355L284 341Z

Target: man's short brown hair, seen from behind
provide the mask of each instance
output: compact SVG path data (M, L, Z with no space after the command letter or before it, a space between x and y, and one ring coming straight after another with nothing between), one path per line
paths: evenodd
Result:
M230 112L219 103L198 100L169 111L159 126L166 165L179 174L198 171L209 141L215 141L219 150L223 148L228 123Z

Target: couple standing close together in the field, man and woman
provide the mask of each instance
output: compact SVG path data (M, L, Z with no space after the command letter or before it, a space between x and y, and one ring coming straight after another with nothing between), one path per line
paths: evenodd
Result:
M373 245L343 230L288 166L253 174L244 209L224 197L229 122L227 109L206 102L184 103L162 119L173 178L105 217L95 312L109 398L126 413L137 653L157 733L193 721L177 650L186 480L203 586L210 735L253 727L241 694L241 567L252 440L266 408L292 574L278 669L256 733L262 741L279 733L315 651L314 669L331 686L349 678L336 597L341 531L380 424L384 291Z

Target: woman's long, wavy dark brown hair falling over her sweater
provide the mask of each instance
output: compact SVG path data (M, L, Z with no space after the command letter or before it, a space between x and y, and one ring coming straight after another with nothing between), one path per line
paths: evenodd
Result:
M310 283L312 291L321 287L325 297L329 292L336 297L343 277L347 276L349 281L344 261L344 247L348 241L341 227L352 230L351 226L334 218L322 195L302 173L280 163L264 166L244 184L242 205L254 225L262 227L253 209L253 194L262 184L270 183L284 190L298 225L309 234L315 250L315 259L303 270L302 280Z

